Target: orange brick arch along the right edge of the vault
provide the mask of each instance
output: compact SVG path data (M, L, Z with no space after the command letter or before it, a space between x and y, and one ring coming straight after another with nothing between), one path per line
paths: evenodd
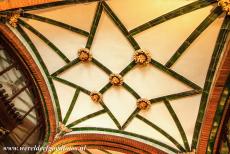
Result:
M197 145L197 154L206 153L209 141L209 135L212 130L212 124L215 117L216 109L221 97L221 93L224 89L225 82L227 81L228 75L230 74L230 42L227 43L225 52L223 54L223 59L219 65L216 80L214 81L214 86L209 96L209 102L205 111L204 120L201 127L201 133L199 136L199 141ZM217 134L218 141L219 133ZM217 148L217 143L215 143L214 151Z

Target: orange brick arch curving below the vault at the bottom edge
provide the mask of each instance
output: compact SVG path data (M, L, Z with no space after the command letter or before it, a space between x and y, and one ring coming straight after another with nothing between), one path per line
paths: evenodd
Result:
M133 139L96 133L66 135L54 141L51 147L85 145L88 149L113 150L127 154L166 154L153 146Z

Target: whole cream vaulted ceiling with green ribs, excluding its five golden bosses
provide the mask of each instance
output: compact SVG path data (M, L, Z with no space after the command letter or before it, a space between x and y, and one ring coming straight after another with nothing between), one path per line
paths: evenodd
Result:
M229 17L216 1L66 4L27 7L16 28L9 27L42 70L58 120L70 134L114 134L169 153L196 149L229 40ZM92 54L90 62L78 57L82 48ZM133 59L140 50L151 56L143 66ZM110 83L112 73L120 74L121 86ZM94 91L102 101L92 101ZM140 109L139 99L149 100L149 109Z

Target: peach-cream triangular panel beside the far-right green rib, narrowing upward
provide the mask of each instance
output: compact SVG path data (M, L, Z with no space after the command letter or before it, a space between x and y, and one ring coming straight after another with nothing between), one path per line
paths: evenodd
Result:
M203 87L224 17L217 18L178 59L172 69Z

